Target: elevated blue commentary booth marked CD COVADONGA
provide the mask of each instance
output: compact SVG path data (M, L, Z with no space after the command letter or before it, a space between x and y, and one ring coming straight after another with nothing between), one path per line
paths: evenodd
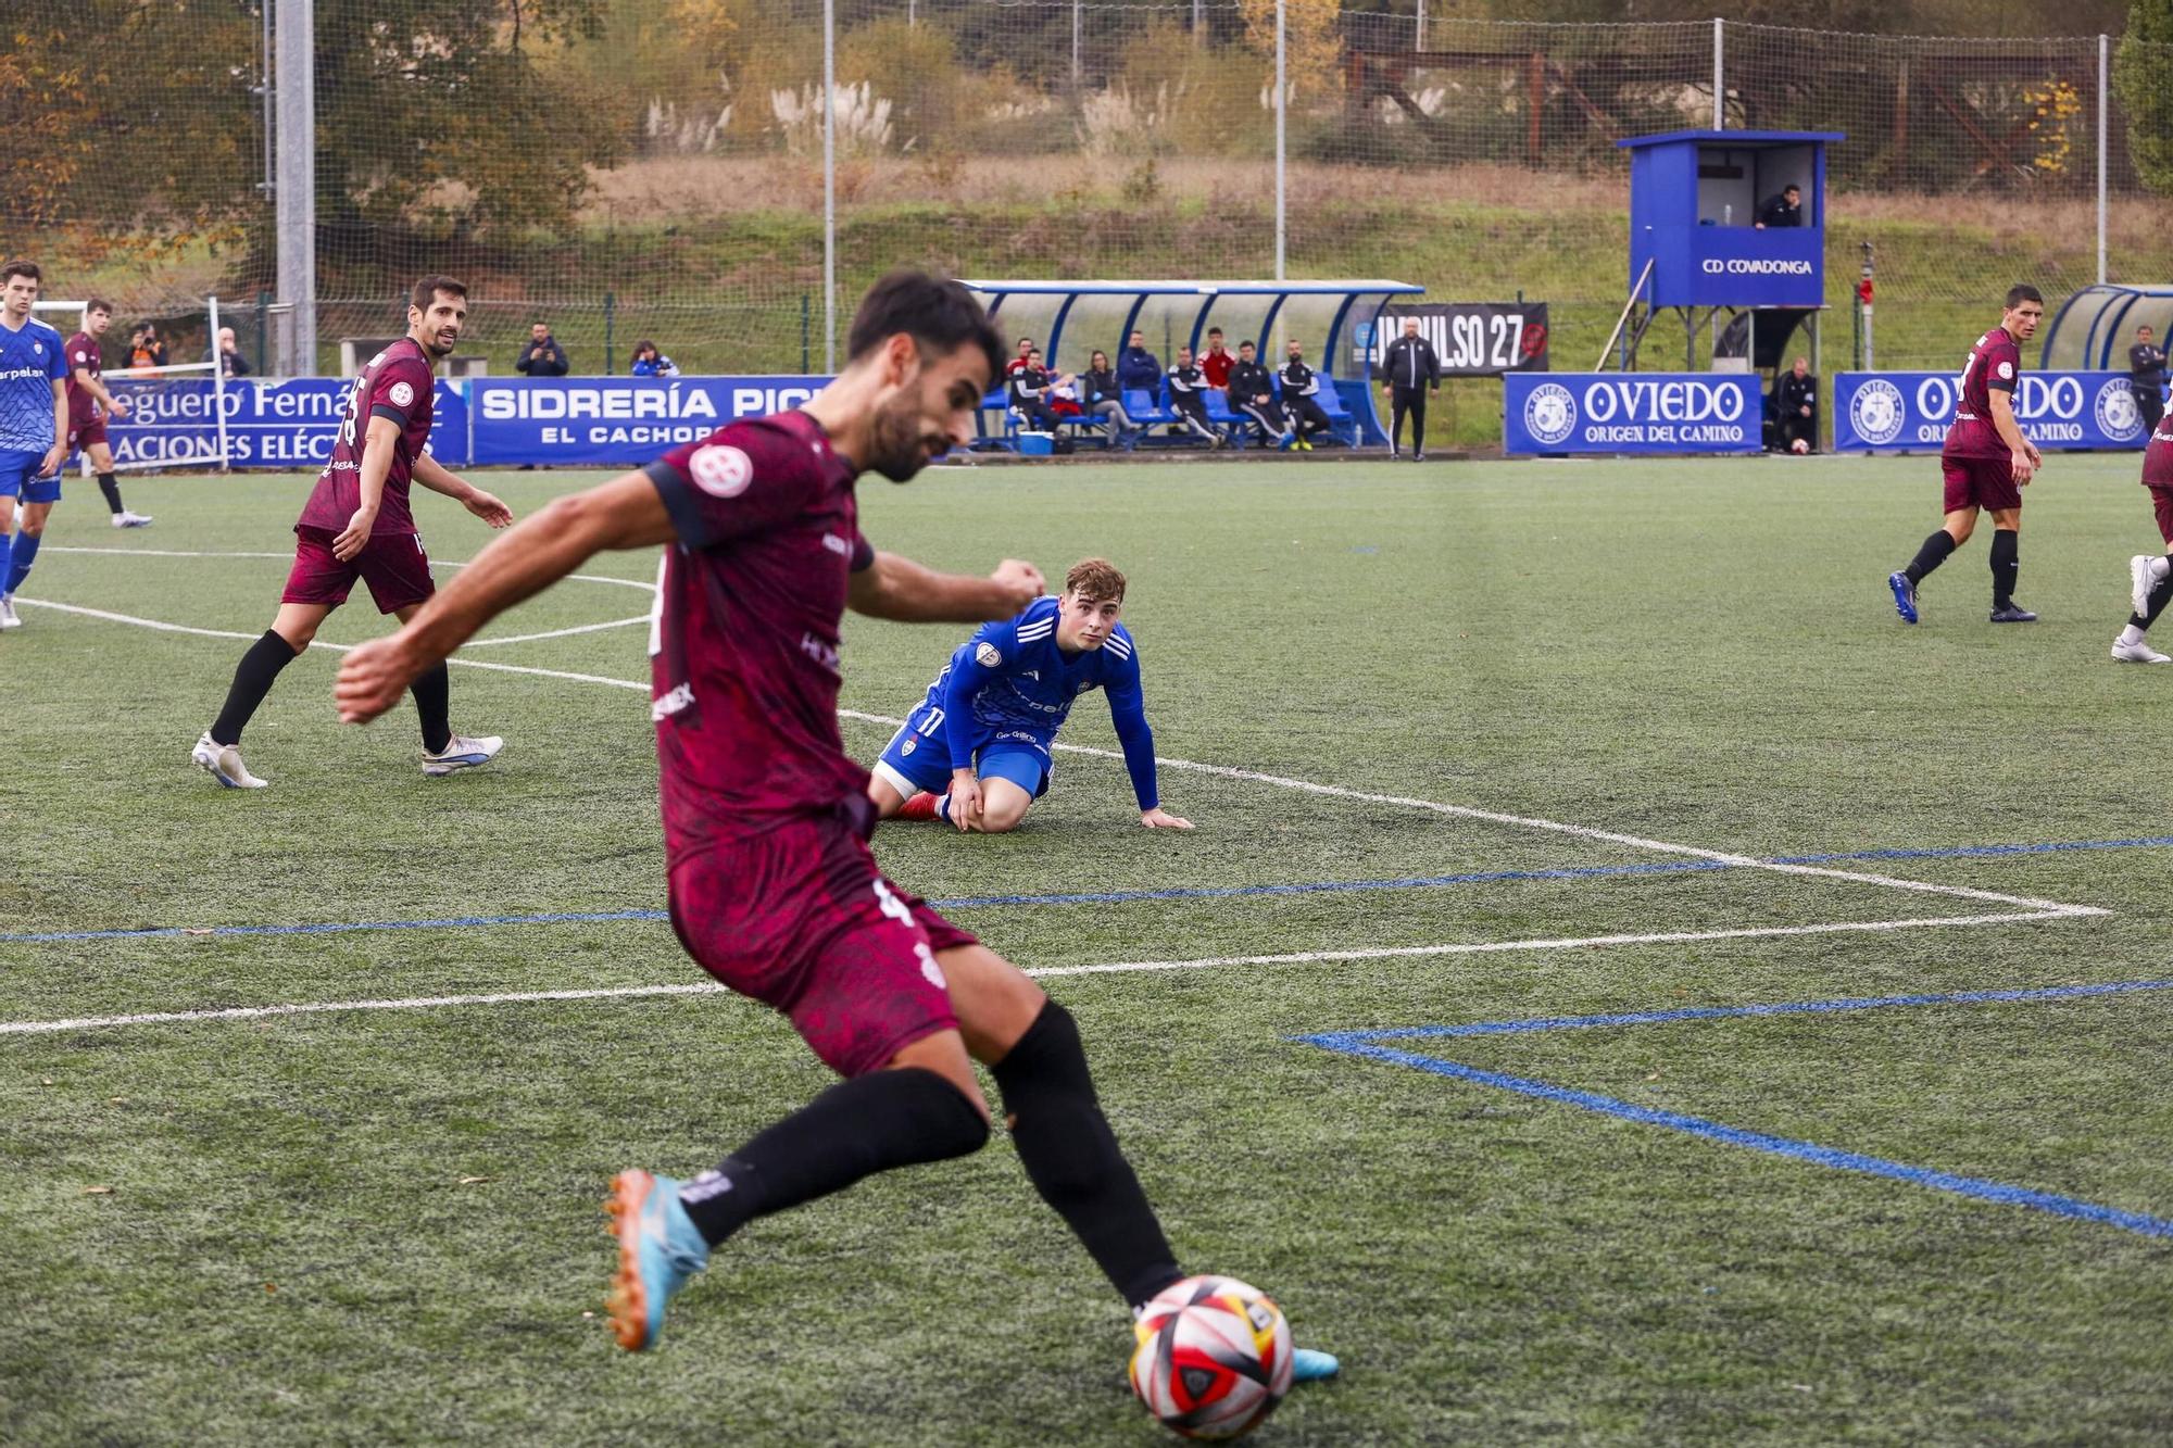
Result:
M1825 146L1841 139L1836 130L1669 130L1619 141L1630 152L1623 367L1660 309L1682 311L1691 367L1699 309L1717 337L1717 313L1747 313L1743 346L1719 350L1758 370L1780 365L1791 333L1825 304ZM1791 185L1801 191L1799 224L1760 228L1758 209ZM1625 333L1638 304L1645 313Z

